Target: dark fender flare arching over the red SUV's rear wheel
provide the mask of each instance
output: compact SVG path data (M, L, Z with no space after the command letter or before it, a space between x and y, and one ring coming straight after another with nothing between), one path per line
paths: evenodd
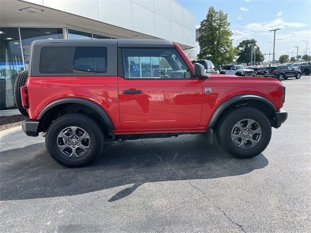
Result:
M39 116L37 117L37 120L40 120L42 118L42 116L44 116L50 109L52 109L53 107L60 105L60 104L64 104L64 103L79 103L79 104L83 104L86 105L87 107L92 108L94 111L96 111L99 116L101 116L105 123L108 126L108 130L109 132L112 132L112 130L115 129L115 127L113 126L113 123L110 119L110 117L108 116L108 114L104 111L103 108L101 108L98 104L92 102L91 100L86 100L86 99L82 99L82 98L75 98L75 97L70 97L70 98L64 98L64 99L60 99L60 100L55 100L52 103L48 104L47 106L45 106L45 108L40 112Z

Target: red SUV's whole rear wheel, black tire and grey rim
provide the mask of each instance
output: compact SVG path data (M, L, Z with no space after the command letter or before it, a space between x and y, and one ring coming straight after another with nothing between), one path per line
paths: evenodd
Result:
M66 114L51 124L45 144L57 163L69 167L86 166L101 154L104 133L93 118L84 114Z

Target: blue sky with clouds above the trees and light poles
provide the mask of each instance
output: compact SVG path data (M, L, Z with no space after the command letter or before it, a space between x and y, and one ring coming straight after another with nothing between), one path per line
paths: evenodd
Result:
M176 0L196 17L196 27L200 25L209 6L228 14L233 35L233 46L237 39L257 40L261 52L273 53L273 32L276 31L276 59L288 54L304 55L308 40L308 54L311 55L311 0ZM241 42L240 40L239 42ZM238 42L238 43L239 43ZM270 47L271 46L271 47ZM265 61L269 55L265 56ZM272 60L272 55L270 57Z

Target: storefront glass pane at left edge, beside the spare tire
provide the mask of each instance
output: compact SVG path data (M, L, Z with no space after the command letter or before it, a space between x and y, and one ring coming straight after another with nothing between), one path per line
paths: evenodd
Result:
M0 110L16 109L14 84L24 70L18 28L0 28Z

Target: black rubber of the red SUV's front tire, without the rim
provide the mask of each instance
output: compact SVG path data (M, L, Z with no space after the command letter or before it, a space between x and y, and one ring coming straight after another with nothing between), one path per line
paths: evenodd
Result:
M242 119L253 119L258 122L261 128L260 139L255 147L241 149L237 147L231 139L232 128ZM224 127L224 138L221 140L223 144L221 146L224 147L227 152L239 158L254 157L260 154L268 146L271 139L271 125L267 116L259 110L250 107L245 107L241 109L241 111L231 112L225 118L222 127Z

